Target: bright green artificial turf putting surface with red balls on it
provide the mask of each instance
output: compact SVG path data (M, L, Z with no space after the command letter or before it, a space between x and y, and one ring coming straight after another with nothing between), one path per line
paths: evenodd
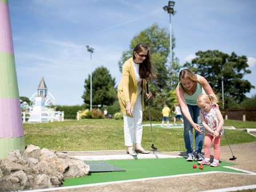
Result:
M171 159L137 159L137 160L110 160L105 161L113 166L120 167L126 171L91 173L86 177L65 179L63 186L84 185L89 183L101 183L111 181L122 181L128 179L140 179L150 177L162 177L178 174L202 173L208 171L226 171L243 173L228 169L223 166L234 165L233 163L221 162L219 167L203 166L203 170L193 169L196 162L186 162L183 158Z

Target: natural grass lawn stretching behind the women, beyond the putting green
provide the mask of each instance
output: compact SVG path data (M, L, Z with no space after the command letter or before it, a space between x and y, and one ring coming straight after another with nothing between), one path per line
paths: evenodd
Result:
M233 121L228 120L228 123L232 125ZM234 121L233 126L237 128L248 127L251 122L247 123ZM255 122L254 124L256 127ZM254 124L250 124L251 127ZM227 125L226 121L225 125ZM53 123L25 123L23 127L26 145L33 144L41 147L41 149L43 147L57 151L126 149L123 142L122 120L82 119L80 121L68 120ZM247 134L246 131L226 130L226 133L231 144L256 141L256 138ZM153 127L153 138L155 146L161 151L185 150L183 129ZM222 139L221 144L227 145L226 139ZM150 149L150 127L143 128L142 145L146 149Z

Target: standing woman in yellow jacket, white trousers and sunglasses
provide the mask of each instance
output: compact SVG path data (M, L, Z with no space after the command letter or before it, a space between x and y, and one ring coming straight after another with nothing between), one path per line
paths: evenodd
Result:
M133 156L137 153L149 153L141 146L143 93L146 92L146 82L154 77L149 47L144 43L139 43L133 50L133 57L123 64L122 79L118 85L118 101L123 113L125 146L128 147L127 153ZM151 92L146 93L147 99L151 96Z

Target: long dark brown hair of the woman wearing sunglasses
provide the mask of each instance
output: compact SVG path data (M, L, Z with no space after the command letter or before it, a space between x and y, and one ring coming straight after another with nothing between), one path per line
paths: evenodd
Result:
M147 57L146 59L139 65L139 77L142 79L154 79L155 74L153 72L152 66L151 66L151 59L150 59L150 49L145 43L139 43L134 47L133 50L133 59L135 59L134 52L140 53L141 51L147 51Z

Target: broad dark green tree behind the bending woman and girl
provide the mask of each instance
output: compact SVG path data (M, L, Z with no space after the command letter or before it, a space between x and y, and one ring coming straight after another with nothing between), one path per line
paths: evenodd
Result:
M254 86L243 77L251 73L247 67L247 57L238 56L234 52L229 54L219 50L198 51L197 58L184 66L191 68L195 73L205 77L215 93L222 98L222 78L224 84L225 108L231 107L234 103L241 103L245 93L250 92Z

